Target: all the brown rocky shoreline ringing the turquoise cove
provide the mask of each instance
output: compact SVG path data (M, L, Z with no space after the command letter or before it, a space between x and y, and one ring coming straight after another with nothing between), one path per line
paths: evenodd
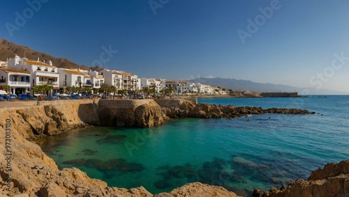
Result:
M158 104L160 103L160 104ZM47 157L38 145L27 139L55 135L67 129L89 125L120 127L153 127L172 118L234 118L248 114L309 114L301 109L261 109L258 107L223 107L177 101L176 104L149 101L62 101L43 102L34 107L0 109L0 196L237 196L223 187L199 182L185 184L169 193L150 194L143 187L120 189L107 187L101 180L89 178L77 168L64 168ZM336 167L331 164L311 175L310 180L296 180L281 190L265 192L265 196L321 196L327 189L336 196L348 194L349 162ZM344 170L346 171L344 171ZM346 173L342 175L341 173ZM333 186L333 188L332 188ZM298 194L298 195L293 195ZM332 195L330 195L332 196Z

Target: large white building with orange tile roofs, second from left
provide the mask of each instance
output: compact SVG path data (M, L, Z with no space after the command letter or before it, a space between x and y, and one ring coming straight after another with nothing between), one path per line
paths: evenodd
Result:
M21 58L15 55L15 58L8 59L8 68L30 72L30 86L48 84L53 86L54 89L59 88L58 68L52 65L52 61L45 63L39 61L39 58L37 61L31 61L27 58ZM25 80L27 81L27 79L28 78ZM17 91L15 93L17 93Z

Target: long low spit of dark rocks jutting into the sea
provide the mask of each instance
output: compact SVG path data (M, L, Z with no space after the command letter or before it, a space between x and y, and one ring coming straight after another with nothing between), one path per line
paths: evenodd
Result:
M249 114L285 113L309 114L313 113L304 109L262 109L261 107L234 107L217 104L193 104L183 101L175 107L163 107L164 113L170 118L236 118Z

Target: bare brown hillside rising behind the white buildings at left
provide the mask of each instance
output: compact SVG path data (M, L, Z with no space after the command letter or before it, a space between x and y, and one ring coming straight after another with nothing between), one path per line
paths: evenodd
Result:
M26 46L16 45L13 42L8 42L8 40L4 40L0 38L0 61L6 61L7 58L14 58L15 54L18 56L25 56L31 60L37 60L40 58L40 61L52 61L52 64L57 68L80 68L83 70L97 70L100 71L102 68L100 67L89 67L86 65L78 65L68 60L67 58L56 58L54 56L50 56L49 54L45 54L43 52L36 52L33 49L30 49Z

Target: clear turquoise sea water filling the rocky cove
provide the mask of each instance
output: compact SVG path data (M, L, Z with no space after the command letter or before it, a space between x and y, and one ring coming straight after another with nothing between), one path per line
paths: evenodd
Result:
M328 162L349 159L349 96L198 102L316 114L186 118L150 129L76 129L47 138L41 147L59 168L75 166L109 186L144 186L153 194L200 181L246 196L255 188L306 179Z

